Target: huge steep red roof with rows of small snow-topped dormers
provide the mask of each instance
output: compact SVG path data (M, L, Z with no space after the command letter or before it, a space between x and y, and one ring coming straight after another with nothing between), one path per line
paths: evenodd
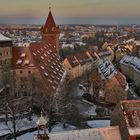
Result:
M55 41L48 38L46 41L31 44L29 49L48 89L56 91L63 79L65 70L57 57Z

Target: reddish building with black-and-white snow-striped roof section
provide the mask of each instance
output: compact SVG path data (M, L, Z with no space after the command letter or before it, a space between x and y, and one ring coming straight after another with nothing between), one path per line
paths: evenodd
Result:
M110 61L107 59L100 60L98 74L102 83L104 83L103 87L99 86L98 102L115 105L119 101L127 99L128 85L126 78Z

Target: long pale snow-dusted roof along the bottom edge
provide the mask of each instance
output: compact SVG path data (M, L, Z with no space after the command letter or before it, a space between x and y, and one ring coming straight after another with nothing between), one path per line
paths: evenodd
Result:
M121 140L119 128L74 130L50 135L50 140Z

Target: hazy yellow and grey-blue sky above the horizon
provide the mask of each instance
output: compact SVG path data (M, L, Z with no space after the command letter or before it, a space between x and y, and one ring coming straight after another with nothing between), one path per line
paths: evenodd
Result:
M0 24L139 24L140 0L0 0Z

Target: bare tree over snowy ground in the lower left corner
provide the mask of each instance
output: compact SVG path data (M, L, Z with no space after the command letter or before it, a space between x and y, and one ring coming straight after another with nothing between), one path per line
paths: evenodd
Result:
M7 109L6 126L11 132L14 140L17 139L17 133L20 131L18 125L20 124L21 119L24 118L24 111L28 108L29 102L29 100L27 101L26 99L21 98L20 100L15 99L3 103L3 110Z

